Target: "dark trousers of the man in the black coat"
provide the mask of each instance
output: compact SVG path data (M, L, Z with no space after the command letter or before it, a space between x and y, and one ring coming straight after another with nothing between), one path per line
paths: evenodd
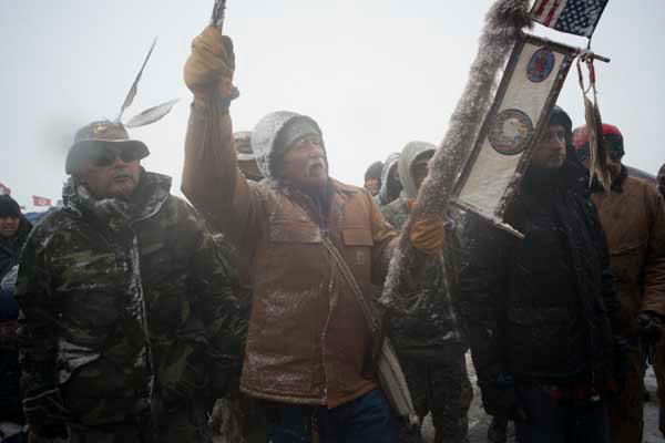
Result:
M520 443L610 443L605 400L553 399L536 385L519 385L529 423L515 422Z

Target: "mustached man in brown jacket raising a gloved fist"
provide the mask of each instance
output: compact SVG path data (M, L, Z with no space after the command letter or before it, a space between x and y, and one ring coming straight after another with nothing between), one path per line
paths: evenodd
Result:
M185 65L194 104L182 189L248 257L254 300L241 389L265 401L274 442L309 441L313 422L323 441L396 442L397 423L374 378L379 337L351 284L370 303L397 234L365 189L328 176L323 133L308 116L262 119L252 148L266 179L238 173L228 115L234 68L231 39L206 28ZM410 238L433 254L443 229L423 218Z

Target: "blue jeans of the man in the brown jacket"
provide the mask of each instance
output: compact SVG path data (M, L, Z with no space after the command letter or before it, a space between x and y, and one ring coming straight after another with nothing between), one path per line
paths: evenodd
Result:
M398 443L399 422L380 390L334 409L274 404L273 443L310 443L311 424L324 443Z

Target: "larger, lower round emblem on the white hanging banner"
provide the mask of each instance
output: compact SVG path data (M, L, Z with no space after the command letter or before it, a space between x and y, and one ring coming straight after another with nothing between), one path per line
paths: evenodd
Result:
M520 110L504 110L494 119L488 138L499 154L515 155L524 151L532 135L529 115Z

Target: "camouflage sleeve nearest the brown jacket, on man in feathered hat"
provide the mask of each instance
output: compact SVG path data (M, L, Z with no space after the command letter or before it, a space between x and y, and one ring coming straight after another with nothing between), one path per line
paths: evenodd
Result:
M208 341L206 360L211 388L222 394L242 369L250 297L238 282L231 244L215 239L201 218L196 223L202 233L194 256L197 311Z

